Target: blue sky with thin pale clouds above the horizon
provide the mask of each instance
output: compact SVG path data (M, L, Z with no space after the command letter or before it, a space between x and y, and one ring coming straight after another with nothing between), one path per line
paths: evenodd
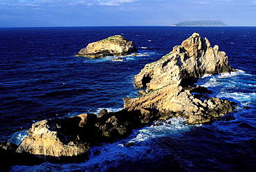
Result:
M256 26L255 0L0 0L0 27L170 26L220 20Z

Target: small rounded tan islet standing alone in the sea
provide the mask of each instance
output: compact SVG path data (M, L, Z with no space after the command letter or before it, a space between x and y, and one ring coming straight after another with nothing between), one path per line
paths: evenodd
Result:
M137 52L135 44L132 41L127 41L127 39L121 35L115 35L88 44L88 46L82 48L76 56L98 59L106 57L107 55L129 55L131 52Z

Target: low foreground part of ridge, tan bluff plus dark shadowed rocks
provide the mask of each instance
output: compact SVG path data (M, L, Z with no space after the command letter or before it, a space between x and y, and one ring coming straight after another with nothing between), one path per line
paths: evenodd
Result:
M134 126L140 124L139 111L108 113L102 110L98 115L89 113L42 120L27 131L28 136L19 144L16 153L47 161L62 161L68 157L83 157L84 160L91 146L127 137Z

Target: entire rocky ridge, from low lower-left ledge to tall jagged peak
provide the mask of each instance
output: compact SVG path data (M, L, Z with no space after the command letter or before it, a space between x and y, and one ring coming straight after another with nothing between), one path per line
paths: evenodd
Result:
M0 144L1 158L8 160L11 155L12 161L6 166L85 160L91 146L127 137L132 129L157 120L177 116L187 118L188 124L218 120L232 112L236 104L208 97L209 90L194 86L194 82L205 74L231 71L226 53L219 51L219 46L210 47L208 39L194 33L169 54L145 65L134 77L134 84L146 90L140 97L124 98L122 111L102 110L98 115L88 113L36 122L18 147L7 142Z

